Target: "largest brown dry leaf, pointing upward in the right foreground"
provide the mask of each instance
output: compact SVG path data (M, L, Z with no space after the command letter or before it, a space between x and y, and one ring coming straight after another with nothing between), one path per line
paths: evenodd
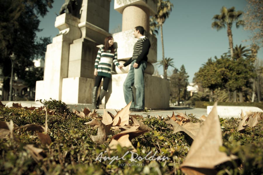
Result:
M222 133L217 115L217 103L195 137L191 149L189 150L184 162L181 164L182 171L191 168L214 169L220 163L229 161L236 156L227 156L226 153L220 152L219 147L222 146Z

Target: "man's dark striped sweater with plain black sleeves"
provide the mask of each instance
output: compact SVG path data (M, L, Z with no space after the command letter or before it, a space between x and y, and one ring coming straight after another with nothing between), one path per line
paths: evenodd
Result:
M147 61L147 55L149 48L151 47L150 41L146 36L141 36L139 40L134 44L132 57L123 65L127 66L136 59L136 63L140 64L141 60Z

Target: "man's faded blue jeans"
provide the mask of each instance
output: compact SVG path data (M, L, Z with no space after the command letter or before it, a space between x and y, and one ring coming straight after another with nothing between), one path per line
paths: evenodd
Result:
M137 68L133 67L136 60L131 62L131 69L123 84L124 99L126 104L131 102L130 108L144 108L144 70L147 62L141 61ZM134 96L132 93L132 86L136 88L136 105L134 105Z

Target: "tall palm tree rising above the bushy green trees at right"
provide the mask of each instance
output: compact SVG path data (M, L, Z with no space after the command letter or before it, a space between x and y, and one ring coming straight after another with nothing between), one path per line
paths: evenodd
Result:
M226 7L222 7L220 15L214 15L212 19L214 22L212 23L212 28L216 28L217 31L227 27L227 36L229 39L229 48L231 53L231 58L233 59L233 35L232 35L232 25L236 22L236 28L240 25L244 25L245 22L243 20L238 20L240 15L242 15L242 11L235 11L235 7L227 9Z

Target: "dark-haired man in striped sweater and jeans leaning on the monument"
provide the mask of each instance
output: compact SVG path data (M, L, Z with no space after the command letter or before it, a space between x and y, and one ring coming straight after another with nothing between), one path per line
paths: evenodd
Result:
M131 64L131 68L123 84L123 92L126 104L132 101L130 110L137 112L143 111L144 108L144 70L147 66L147 55L151 46L149 39L143 33L143 27L135 27L133 35L138 41L134 45L133 55L127 62L121 65L126 67ZM136 105L134 105L132 93L133 85L136 88Z

